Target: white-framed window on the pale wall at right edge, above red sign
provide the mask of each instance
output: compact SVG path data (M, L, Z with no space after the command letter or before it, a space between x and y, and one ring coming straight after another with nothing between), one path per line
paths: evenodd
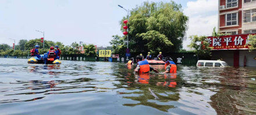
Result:
M244 10L243 18L244 18L244 23L256 21L256 9Z

